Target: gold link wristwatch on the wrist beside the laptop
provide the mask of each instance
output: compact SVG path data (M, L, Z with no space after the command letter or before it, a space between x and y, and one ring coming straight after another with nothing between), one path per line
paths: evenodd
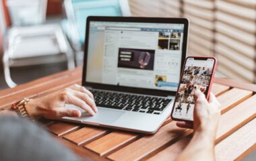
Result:
M13 103L11 105L11 109L14 109L18 115L21 117L24 117L26 119L31 119L28 110L26 109L26 104L30 101L31 99L22 99L22 101L18 101L17 103Z

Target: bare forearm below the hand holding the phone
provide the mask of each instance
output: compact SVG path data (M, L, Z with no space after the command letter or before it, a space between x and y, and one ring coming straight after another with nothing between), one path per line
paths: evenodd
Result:
M194 136L177 161L184 160L215 160L214 138L206 132L195 132Z

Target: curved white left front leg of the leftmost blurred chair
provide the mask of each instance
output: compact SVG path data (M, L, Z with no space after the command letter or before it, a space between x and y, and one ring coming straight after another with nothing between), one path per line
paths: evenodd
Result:
M13 80L11 79L11 72L9 68L9 58L6 54L3 56L3 72L5 74L5 82L7 83L7 85L10 88L16 87L17 84L14 83Z

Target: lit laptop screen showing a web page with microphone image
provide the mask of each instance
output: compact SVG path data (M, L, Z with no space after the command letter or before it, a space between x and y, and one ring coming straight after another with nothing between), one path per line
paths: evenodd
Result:
M184 24L90 21L86 82L177 91Z

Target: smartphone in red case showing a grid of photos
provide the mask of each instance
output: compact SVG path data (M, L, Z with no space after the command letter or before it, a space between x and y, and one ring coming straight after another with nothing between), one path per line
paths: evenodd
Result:
M214 57L189 56L185 60L181 80L170 117L176 121L193 121L194 93L199 89L206 99L210 96L216 71Z

